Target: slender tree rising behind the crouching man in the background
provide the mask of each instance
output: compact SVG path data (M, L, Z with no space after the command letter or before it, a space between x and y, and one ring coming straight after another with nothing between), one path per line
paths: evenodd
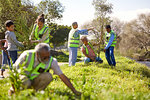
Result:
M96 26L97 32L93 32L97 41L104 45L104 26L110 24L110 17L108 14L112 13L112 4L107 3L107 0L93 0L95 7L96 19L93 20L93 25ZM98 47L98 56L100 55L100 45Z

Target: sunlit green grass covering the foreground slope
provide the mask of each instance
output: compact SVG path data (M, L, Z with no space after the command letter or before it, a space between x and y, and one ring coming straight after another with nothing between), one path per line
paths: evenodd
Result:
M0 100L150 100L150 69L147 66L116 54L117 66L111 68L104 53L101 58L103 64L84 65L81 62L73 67L68 67L67 64L61 66L74 87L82 92L81 96L75 96L54 75L45 91L35 93L28 89L11 97L7 92L10 88L8 78L0 80Z

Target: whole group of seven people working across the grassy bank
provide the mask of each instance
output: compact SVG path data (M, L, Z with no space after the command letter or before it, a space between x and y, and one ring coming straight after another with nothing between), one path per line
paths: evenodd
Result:
M2 49L2 68L1 78L4 78L3 72L5 71L5 65L8 63L10 69L12 67L19 69L20 65L24 67L25 75L22 75L23 88L33 88L36 91L44 90L52 81L52 75L49 70L52 69L54 74L72 90L76 95L81 95L70 82L70 80L61 71L57 59L51 56L49 46L49 33L50 29L45 25L44 15L38 16L36 23L34 24L32 33L29 37L30 43L37 43L34 50L24 51L19 58L17 58L17 47L24 47L24 42L21 43L16 39L14 33L14 23L11 20L5 23L7 31L5 32L5 39L0 40L0 48ZM111 30L110 25L106 26L106 59L111 66L115 66L115 59L113 55L114 46L116 43L116 35ZM69 33L68 47L69 47L69 66L73 66L77 59L77 49L79 47L80 35L88 35L88 31L93 28L78 30L77 22L72 23L72 29ZM81 38L83 42L82 52L86 56L85 63L95 61L102 63L103 60L96 56L93 45L88 42L86 36ZM4 45L2 45L4 43ZM11 63L12 62L12 63ZM12 65L13 64L13 65ZM12 95L15 89L12 87L9 90L9 95Z

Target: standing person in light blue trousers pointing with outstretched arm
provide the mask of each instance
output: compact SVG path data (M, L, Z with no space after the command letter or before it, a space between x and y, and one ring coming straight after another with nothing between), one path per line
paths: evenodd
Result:
M78 23L72 23L72 29L69 32L68 48L69 48L69 66L74 66L77 60L77 49L79 47L80 35L88 35L89 30L93 28L78 30Z

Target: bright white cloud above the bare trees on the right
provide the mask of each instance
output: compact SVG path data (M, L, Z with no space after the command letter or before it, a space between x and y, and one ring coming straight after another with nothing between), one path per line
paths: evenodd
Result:
M115 12L111 15L111 17L117 17L121 21L131 21L133 19L136 19L139 14L142 13L150 13L150 9L137 9L137 10L132 10L132 11L122 11L122 12Z

